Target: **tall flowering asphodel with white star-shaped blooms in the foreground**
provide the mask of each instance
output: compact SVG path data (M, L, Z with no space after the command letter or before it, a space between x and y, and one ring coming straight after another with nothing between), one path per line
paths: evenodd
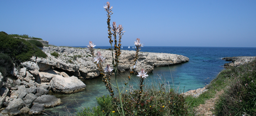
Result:
M130 77L132 76L133 73L135 73L137 59L138 59L139 51L141 49L140 47L143 47L143 46L140 42L140 39L136 39L136 41L134 41L134 45L136 46L135 47L136 55L135 55L134 63L133 63L134 66L133 66L132 70L130 70L131 75L128 75L127 82L124 83L124 85L125 85L124 88L120 89L118 86L118 83L117 83L117 72L118 72L119 57L121 55L121 50L120 50L121 45L122 45L121 39L122 39L122 35L124 34L125 31L123 31L123 27L121 24L119 26L117 26L116 22L113 22L112 26L110 25L110 17L113 14L112 8L113 7L110 7L109 2L107 2L107 5L104 6L105 11L107 11L107 29L108 29L109 43L111 45L113 69L110 67L110 65L107 65L106 68L103 68L105 58L101 55L101 53L99 51L97 52L96 56L94 55L94 47L96 45L92 44L92 41L89 41L89 45L87 47L88 47L92 57L94 58L94 63L96 64L97 69L99 70L99 73L102 75L102 81L104 82L106 89L110 92L110 95L112 96L115 105L118 107L117 108L118 113L120 115L124 116L124 108L123 108L121 95L122 95L122 92L127 87ZM113 35L113 39L112 39L112 35ZM112 72L114 72L116 86L112 85L112 83L110 82L110 80L111 80L110 75L112 74ZM137 76L141 77L140 85L143 84L143 80L144 80L146 74L147 74L147 72L144 72L144 70L142 69L142 72L139 72L139 75L137 75ZM117 98L114 96L114 91L113 91L112 87L117 89L119 103L117 103L117 100L116 100ZM141 92L142 92L142 86L140 87L140 93ZM140 96L139 96L139 98L140 98ZM120 109L122 112L119 111Z

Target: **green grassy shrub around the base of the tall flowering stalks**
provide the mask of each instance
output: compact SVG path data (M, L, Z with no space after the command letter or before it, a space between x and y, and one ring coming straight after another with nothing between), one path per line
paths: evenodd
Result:
M137 103L139 90L125 91L122 93L125 116L188 116L185 97L177 90L167 88L168 86L163 83L145 87L139 103ZM77 114L78 116L119 116L117 106L114 104L114 101L118 103L118 100L109 96L97 98L99 106L84 109Z

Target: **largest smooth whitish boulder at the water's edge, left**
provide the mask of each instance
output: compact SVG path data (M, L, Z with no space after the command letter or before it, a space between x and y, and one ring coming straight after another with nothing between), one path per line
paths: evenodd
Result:
M57 75L54 77L50 85L52 87L53 92L62 92L62 93L72 93L77 92L79 90L85 89L86 85L77 77L62 77Z

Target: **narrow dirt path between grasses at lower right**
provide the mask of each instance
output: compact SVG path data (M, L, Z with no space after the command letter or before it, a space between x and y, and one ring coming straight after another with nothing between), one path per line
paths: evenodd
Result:
M221 95L224 90L218 91L215 94L214 98L205 101L205 104L200 104L196 107L196 116L215 116L212 111L214 110L214 105L216 100L219 99L219 95Z

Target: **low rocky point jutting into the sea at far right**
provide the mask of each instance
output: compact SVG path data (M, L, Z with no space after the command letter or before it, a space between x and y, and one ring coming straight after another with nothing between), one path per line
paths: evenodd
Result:
M225 67L227 66L238 66L244 63L253 62L256 60L256 56L235 56L235 57L225 57L222 60L232 61L231 63L225 63Z

